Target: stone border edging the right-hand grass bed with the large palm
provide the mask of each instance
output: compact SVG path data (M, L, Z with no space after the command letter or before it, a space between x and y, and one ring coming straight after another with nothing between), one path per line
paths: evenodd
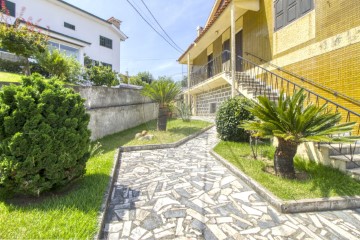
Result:
M244 172L232 165L226 159L221 157L219 154L215 153L213 150L210 151L210 154L219 162L221 162L225 167L227 167L231 172L233 172L237 177L253 188L261 197L265 198L266 201L268 201L281 213L301 213L360 208L360 196L283 201L265 189L254 179L247 176Z

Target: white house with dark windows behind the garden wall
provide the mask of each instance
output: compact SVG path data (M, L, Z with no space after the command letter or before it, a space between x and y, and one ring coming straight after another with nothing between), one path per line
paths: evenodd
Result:
M4 1L4 0L0 0ZM84 64L84 54L92 60L120 71L120 42L127 36L120 30L121 21L102 19L62 0L5 1L9 15L32 19L50 36L49 44L75 56ZM48 30L47 30L48 29Z

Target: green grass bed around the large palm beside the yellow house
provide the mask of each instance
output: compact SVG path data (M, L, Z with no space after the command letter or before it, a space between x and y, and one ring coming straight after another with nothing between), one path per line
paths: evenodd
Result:
M295 168L308 174L306 180L288 180L264 172L265 166L273 166L275 148L269 145L261 146L259 151L267 160L252 159L247 143L222 141L214 151L283 200L360 195L359 181L299 157L295 157Z

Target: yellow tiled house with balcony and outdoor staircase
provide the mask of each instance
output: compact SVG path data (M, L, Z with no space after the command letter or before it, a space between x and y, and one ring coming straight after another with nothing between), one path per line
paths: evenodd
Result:
M359 13L358 0L217 0L179 58L194 113L213 115L238 94L275 98L298 84L359 121Z

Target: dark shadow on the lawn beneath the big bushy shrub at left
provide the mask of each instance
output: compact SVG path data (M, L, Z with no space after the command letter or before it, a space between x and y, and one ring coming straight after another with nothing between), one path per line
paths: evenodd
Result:
M76 209L83 212L98 211L103 200L104 185L109 181L109 175L85 175L66 186L43 193L40 197L9 195L0 189L0 202L4 202L9 212ZM99 197L100 196L100 197Z

